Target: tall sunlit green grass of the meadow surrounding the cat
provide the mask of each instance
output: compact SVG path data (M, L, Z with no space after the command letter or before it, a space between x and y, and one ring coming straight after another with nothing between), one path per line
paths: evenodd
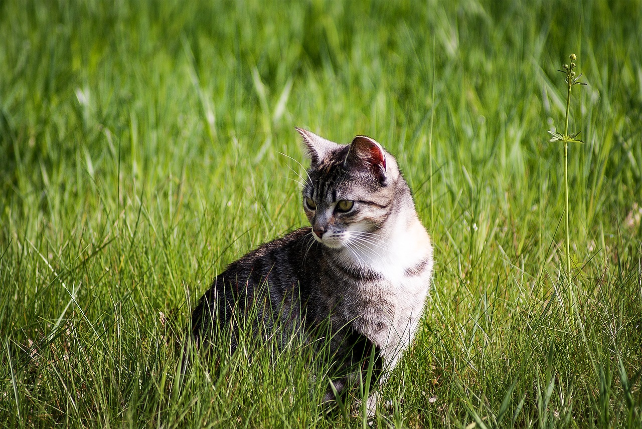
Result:
M629 1L0 1L0 421L362 426L317 407L295 350L178 372L214 275L305 224L303 126L394 153L435 243L380 426L641 426L640 22ZM546 133L570 53L575 302Z

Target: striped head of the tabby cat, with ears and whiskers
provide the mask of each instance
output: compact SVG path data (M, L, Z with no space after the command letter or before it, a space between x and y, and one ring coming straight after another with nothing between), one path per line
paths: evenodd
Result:
M336 249L372 242L408 189L394 157L363 135L337 144L297 131L310 158L302 204L315 239Z

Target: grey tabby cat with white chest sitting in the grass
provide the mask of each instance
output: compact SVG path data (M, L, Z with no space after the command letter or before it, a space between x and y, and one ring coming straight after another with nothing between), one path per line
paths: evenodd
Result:
M232 262L193 310L191 334L203 347L227 332L234 353L251 313L259 340L329 339L331 401L369 357L379 384L397 365L421 319L433 248L408 183L379 143L358 135L337 144L296 130L310 160L301 199L310 226ZM373 389L370 415L377 397Z

